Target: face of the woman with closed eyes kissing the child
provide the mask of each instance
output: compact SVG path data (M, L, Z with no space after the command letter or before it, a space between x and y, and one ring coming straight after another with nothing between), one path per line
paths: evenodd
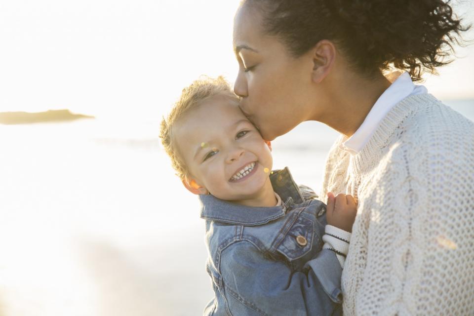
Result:
M311 52L292 57L273 36L262 32L258 10L242 6L234 24L238 75L234 91L242 112L273 140L311 117Z

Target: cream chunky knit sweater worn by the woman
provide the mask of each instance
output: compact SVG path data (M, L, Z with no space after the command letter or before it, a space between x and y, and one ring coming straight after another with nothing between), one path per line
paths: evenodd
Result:
M474 315L474 123L421 94L395 105L357 155L344 140L321 193L358 197L344 315Z

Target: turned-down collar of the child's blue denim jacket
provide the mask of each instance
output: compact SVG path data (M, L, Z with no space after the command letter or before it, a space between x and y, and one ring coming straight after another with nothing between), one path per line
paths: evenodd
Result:
M284 201L282 206L249 207L231 203L212 195L199 195L201 218L237 225L261 225L283 216L290 205L305 201L288 167L272 171L270 181L273 190Z

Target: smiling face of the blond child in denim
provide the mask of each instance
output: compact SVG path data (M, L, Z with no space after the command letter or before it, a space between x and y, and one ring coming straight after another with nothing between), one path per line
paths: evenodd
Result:
M236 100L216 96L205 101L178 121L175 132L192 178L213 196L239 202L273 192L269 145Z

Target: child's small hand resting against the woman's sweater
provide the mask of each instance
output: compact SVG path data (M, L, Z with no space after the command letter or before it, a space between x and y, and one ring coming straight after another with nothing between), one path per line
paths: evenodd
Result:
M334 197L327 193L326 219L329 225L352 233L352 225L356 219L357 202L351 195L338 194Z

